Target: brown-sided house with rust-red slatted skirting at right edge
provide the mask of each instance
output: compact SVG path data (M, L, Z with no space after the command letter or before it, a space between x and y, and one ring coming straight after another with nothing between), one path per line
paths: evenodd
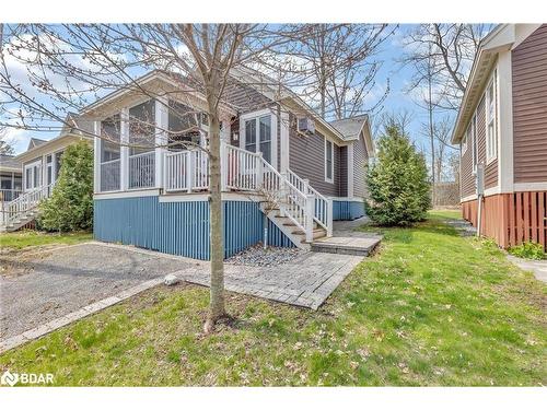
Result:
M480 44L452 142L463 215L502 246L547 244L547 24L501 24Z

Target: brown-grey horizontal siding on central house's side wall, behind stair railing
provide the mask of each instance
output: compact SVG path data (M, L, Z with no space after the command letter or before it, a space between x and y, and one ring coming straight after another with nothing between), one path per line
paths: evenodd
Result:
M340 196L340 147L334 144L333 183L325 181L325 137L321 133L304 137L296 132L295 117L291 114L289 128L289 167L298 176L310 180L321 194Z

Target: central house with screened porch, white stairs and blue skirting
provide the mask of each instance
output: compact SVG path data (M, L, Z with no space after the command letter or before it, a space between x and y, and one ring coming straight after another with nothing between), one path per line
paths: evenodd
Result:
M374 155L366 116L330 124L292 92L253 75L237 72L220 107L226 257L261 242L265 221L269 244L306 247L331 235L333 220L363 215L364 166ZM94 145L95 238L208 259L208 157L177 145L206 147L207 116L199 116L191 131L179 132L187 127L167 109L203 113L205 97L163 71L136 82L165 96L148 99L123 87L81 113L95 119L103 136ZM143 136L120 118L156 127ZM155 144L136 148L143 137ZM267 219L265 196L278 208Z

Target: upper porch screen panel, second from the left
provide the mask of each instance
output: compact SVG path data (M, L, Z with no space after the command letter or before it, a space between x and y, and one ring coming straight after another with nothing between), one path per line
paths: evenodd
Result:
M129 155L152 151L155 144L155 99L129 108Z

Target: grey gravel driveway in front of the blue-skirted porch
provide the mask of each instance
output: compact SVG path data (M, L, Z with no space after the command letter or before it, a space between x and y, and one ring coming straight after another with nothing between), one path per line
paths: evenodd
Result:
M1 339L128 288L197 265L101 244L0 256Z

